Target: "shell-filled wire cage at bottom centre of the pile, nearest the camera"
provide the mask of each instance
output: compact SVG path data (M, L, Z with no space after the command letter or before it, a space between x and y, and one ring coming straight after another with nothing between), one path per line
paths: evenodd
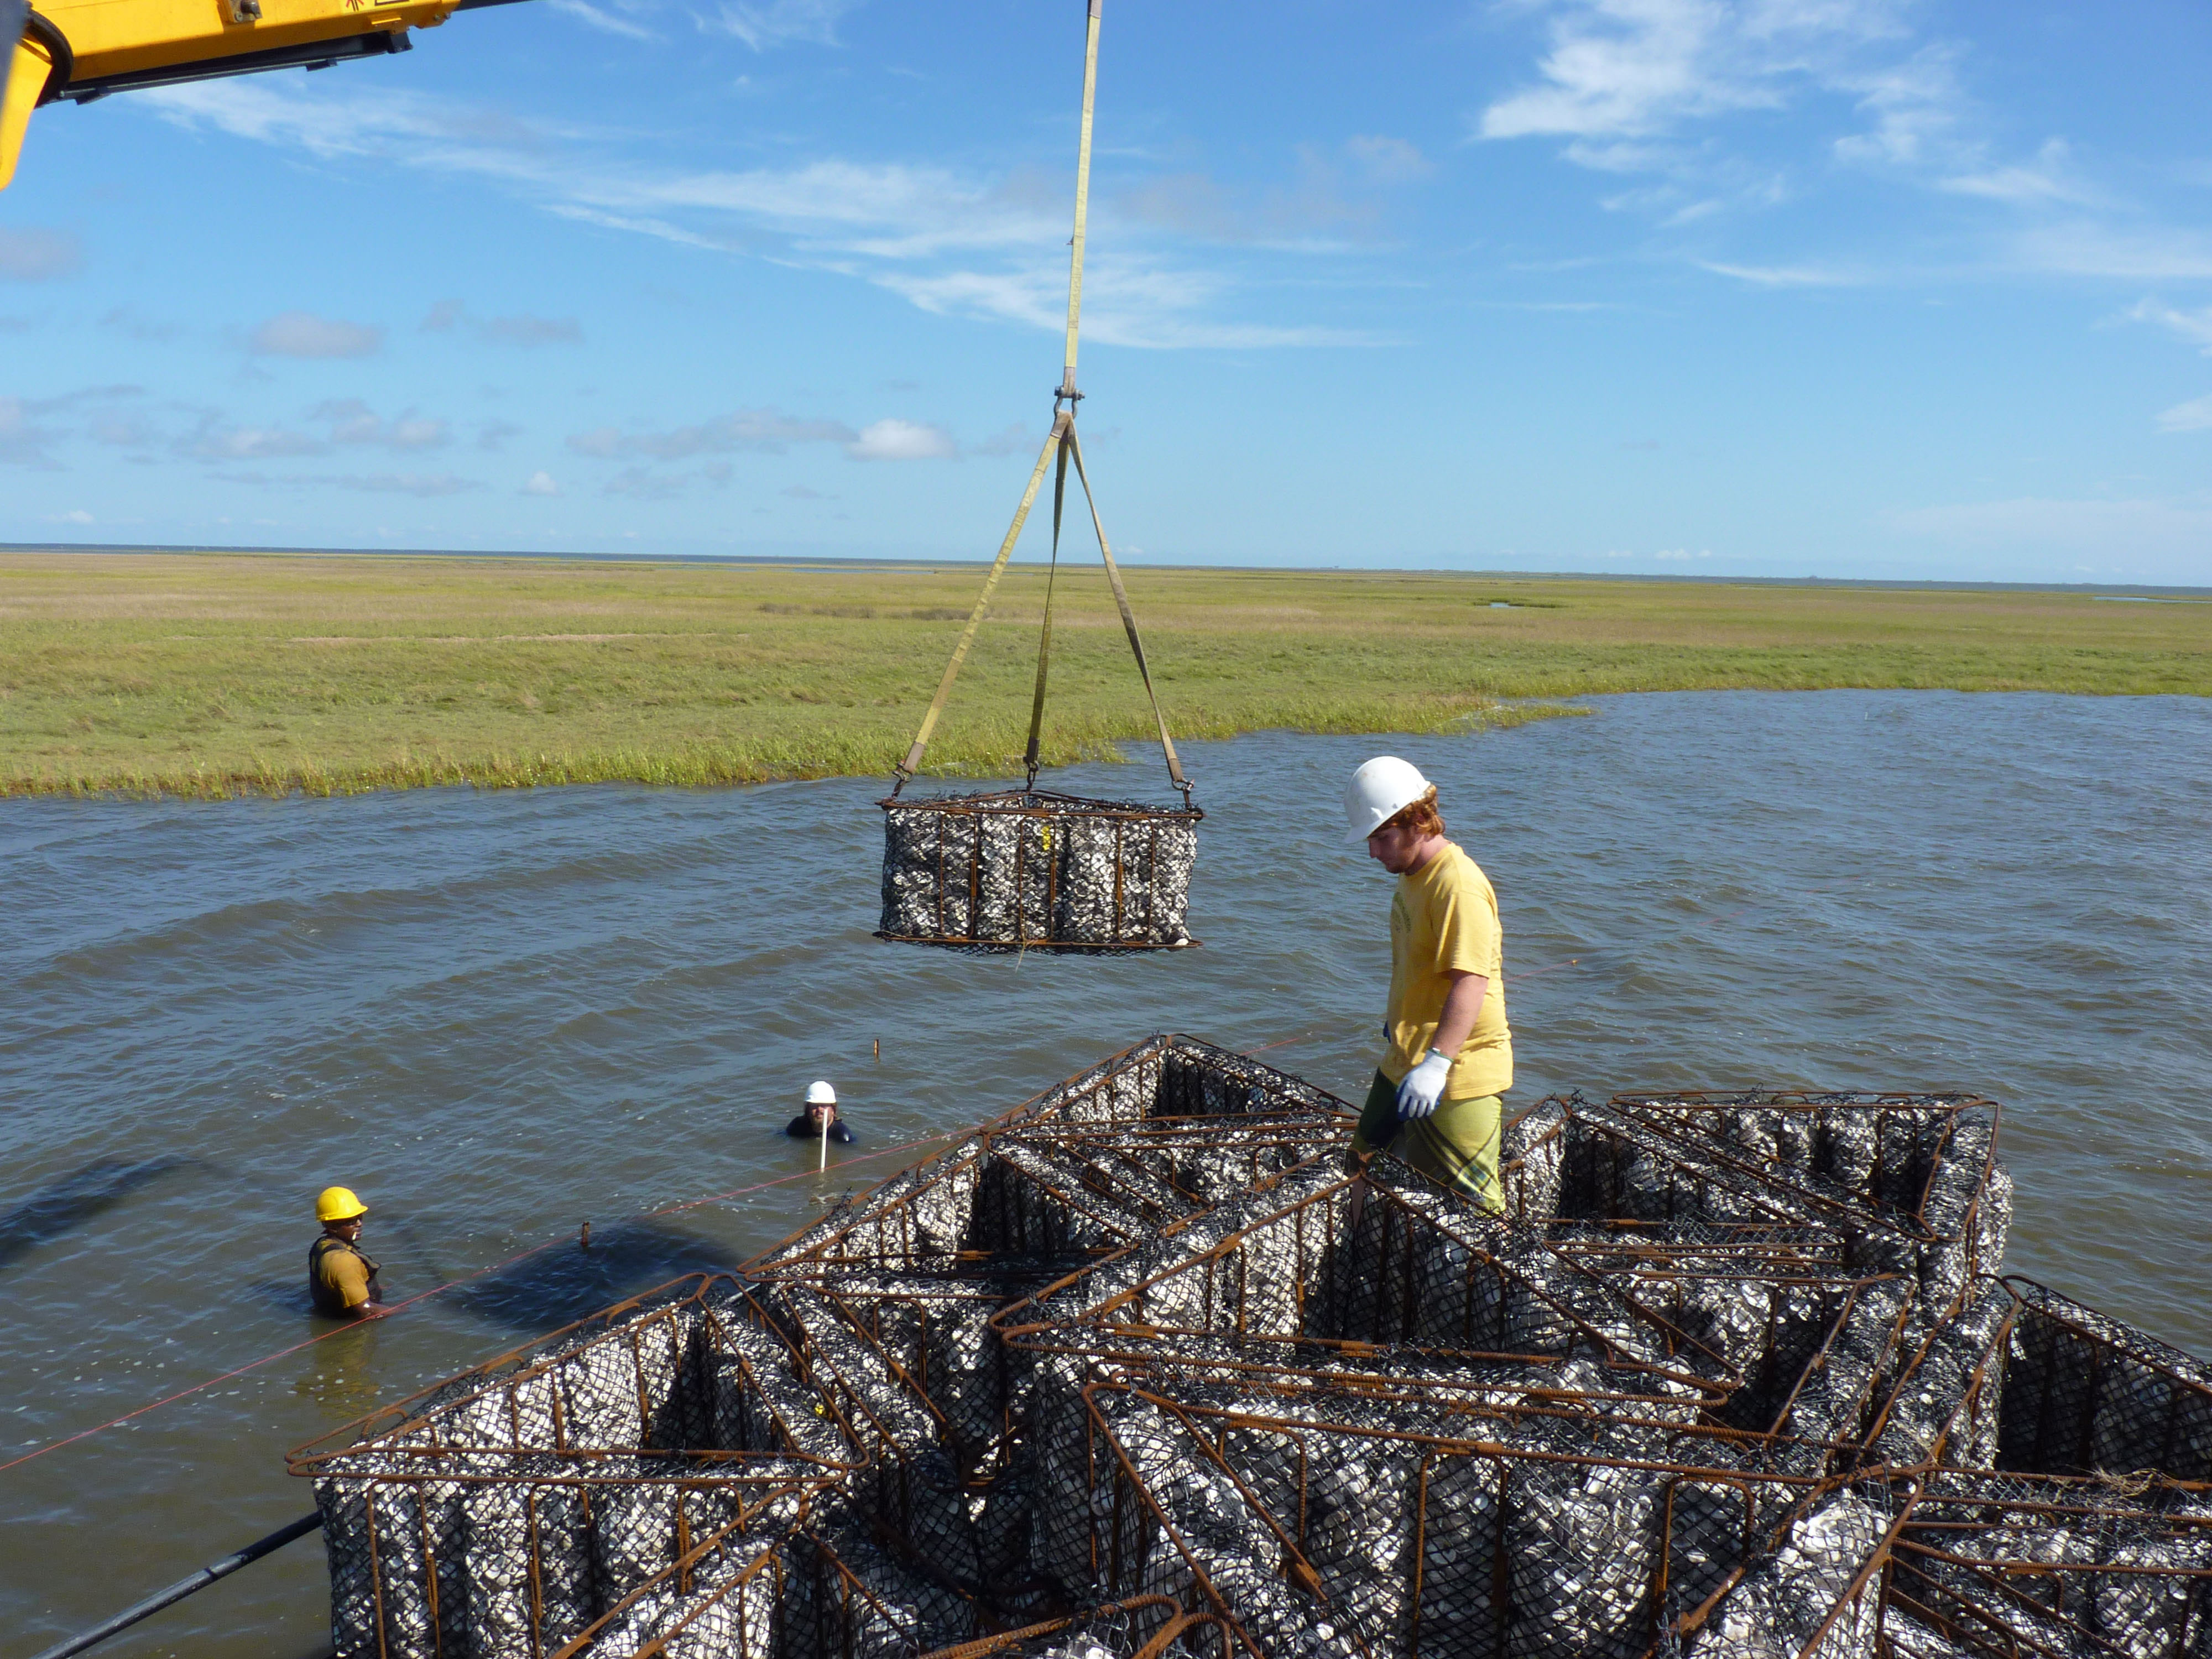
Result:
M1823 1489L1688 1411L1420 1391L1084 1391L1051 1559L1208 1604L1241 1652L1644 1655Z

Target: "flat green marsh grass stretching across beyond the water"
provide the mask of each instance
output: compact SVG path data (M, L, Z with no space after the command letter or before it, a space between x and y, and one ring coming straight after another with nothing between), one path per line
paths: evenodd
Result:
M0 555L0 792L889 774L980 586L980 566ZM2212 695L2205 602L1141 566L1128 588L1177 737L1509 726L1628 690ZM1042 599L1040 566L1009 568L931 770L1020 770ZM1148 730L1077 560L1048 759Z

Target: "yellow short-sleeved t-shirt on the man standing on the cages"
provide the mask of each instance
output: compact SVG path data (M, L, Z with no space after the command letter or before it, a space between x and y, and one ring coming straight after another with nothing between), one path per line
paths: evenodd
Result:
M1389 1009L1383 1018L1391 1046L1383 1075L1391 1082L1405 1082L1429 1051L1451 993L1451 973L1480 973L1491 989L1482 993L1475 1029L1451 1062L1444 1099L1502 1095L1513 1086L1513 1033L1506 1029L1498 894L1482 865L1447 841L1436 858L1398 878L1389 900Z

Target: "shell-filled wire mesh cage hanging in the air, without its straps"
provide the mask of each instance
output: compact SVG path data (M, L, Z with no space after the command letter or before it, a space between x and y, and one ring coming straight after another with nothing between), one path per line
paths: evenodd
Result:
M962 951L1172 951L1199 807L1044 790L885 799L876 938Z

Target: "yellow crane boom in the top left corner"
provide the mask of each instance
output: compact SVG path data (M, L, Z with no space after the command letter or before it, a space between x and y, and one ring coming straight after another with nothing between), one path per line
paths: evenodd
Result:
M456 11L504 0L0 0L0 190L40 104L91 104L139 86L330 69L414 46Z

